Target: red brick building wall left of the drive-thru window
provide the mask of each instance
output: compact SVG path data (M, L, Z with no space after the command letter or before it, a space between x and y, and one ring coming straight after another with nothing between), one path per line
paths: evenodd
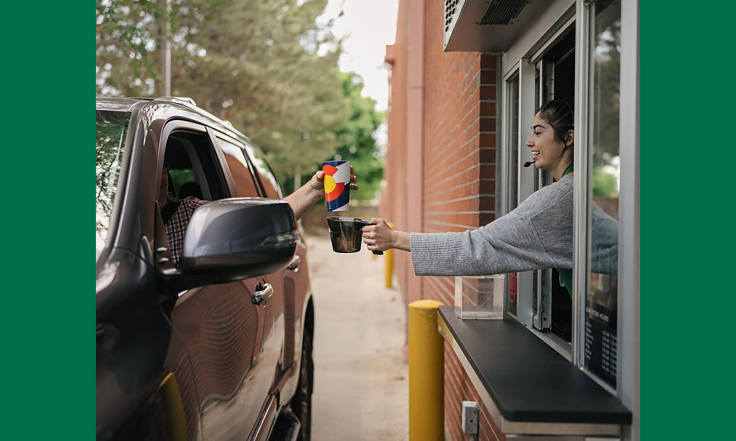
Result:
M401 0L396 40L387 51L388 185L380 214L402 231L462 232L495 219L498 60L495 54L442 51L443 20L442 2ZM428 298L453 304L454 279L414 276L410 254L395 252L394 273L407 303ZM452 440L465 439L463 400L481 404L445 345L445 426ZM502 439L482 404L481 415L478 439Z

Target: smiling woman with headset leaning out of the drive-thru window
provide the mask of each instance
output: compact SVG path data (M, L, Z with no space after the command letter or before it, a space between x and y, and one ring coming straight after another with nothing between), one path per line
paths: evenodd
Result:
M555 182L509 214L462 233L408 233L373 218L363 228L369 250L411 252L417 276L478 276L558 268L570 290L573 268L573 107L545 103L534 116L526 146L534 165Z

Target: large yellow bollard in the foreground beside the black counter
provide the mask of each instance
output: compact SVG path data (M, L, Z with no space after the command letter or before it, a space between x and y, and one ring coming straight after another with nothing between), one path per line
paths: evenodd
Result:
M437 331L437 308L442 302L417 300L409 304L409 440L445 438L445 352Z

